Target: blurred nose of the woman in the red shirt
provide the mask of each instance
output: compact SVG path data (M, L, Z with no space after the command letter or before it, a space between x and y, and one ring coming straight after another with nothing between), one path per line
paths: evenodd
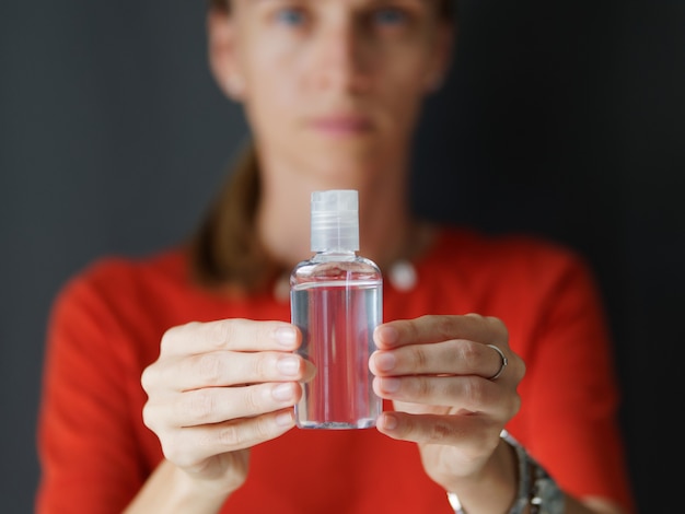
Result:
M322 90L361 93L370 85L370 59L353 20L341 20L320 33L314 62L315 85Z

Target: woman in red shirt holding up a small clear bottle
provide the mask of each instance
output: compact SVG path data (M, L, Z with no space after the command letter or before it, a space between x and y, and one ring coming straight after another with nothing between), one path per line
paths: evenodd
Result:
M449 2L217 0L208 32L253 145L191 245L105 259L58 299L38 512L631 512L582 261L409 211ZM325 189L359 191L360 254L388 278L375 429L293 429L315 370L282 277L311 255ZM394 280L407 266L416 279Z

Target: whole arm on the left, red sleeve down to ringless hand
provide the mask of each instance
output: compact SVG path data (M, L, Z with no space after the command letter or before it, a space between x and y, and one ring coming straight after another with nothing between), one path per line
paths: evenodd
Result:
M279 327L290 336L279 338ZM189 501L194 513L216 512L244 481L248 448L294 424L292 406L306 367L291 353L298 344L297 330L281 323L225 320L169 330L143 377L144 421L167 457L150 475L138 439L148 432L138 407L144 393L131 355L136 340L121 334L91 278L72 282L49 326L36 512L79 505L119 513L131 499L129 512L181 512ZM294 363L283 367L281 358ZM278 386L285 396L271 394Z

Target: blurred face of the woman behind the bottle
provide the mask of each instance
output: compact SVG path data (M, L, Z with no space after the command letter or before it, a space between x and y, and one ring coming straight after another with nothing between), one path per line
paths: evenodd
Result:
M421 100L448 60L434 0L231 5L213 24L224 47L212 65L243 102L263 153L334 172L406 155Z

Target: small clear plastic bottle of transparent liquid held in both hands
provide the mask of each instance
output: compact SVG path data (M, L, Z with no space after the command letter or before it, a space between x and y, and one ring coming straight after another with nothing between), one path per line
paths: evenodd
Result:
M315 255L290 274L291 320L302 331L299 353L316 366L295 405L302 429L365 429L383 402L373 393L369 357L382 323L383 278L358 256L356 190L314 191L311 243Z

